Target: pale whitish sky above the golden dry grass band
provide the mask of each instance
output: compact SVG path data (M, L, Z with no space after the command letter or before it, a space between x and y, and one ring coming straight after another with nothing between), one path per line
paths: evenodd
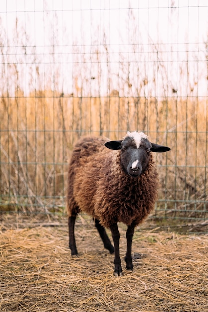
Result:
M207 0L1 0L0 17L1 63L17 64L25 93L76 81L92 96L207 94Z

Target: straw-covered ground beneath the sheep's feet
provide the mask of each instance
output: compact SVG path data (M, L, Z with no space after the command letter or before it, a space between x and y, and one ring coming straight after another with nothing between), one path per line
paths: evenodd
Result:
M126 228L119 229L123 275L115 277L113 255L90 219L76 222L79 256L71 257L66 219L2 215L0 311L208 312L208 234L143 224L133 238L134 272L128 272Z

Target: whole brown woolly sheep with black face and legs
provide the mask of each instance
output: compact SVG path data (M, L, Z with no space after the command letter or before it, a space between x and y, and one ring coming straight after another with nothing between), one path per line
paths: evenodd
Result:
M151 151L169 150L150 143L143 132L128 132L123 140L118 141L84 137L77 142L69 164L67 193L72 255L77 254L75 219L79 212L84 211L95 219L104 247L110 253L115 251L116 276L122 274L117 222L128 226L125 262L126 268L133 270L131 246L134 228L154 209L157 197L158 174ZM105 227L111 230L114 247Z

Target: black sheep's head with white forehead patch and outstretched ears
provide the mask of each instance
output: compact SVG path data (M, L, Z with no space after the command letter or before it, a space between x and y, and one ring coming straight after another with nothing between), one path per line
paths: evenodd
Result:
M151 143L143 132L127 132L123 140L109 141L105 146L112 150L120 150L121 164L124 171L133 177L142 174L148 165L151 151L166 152L170 148Z

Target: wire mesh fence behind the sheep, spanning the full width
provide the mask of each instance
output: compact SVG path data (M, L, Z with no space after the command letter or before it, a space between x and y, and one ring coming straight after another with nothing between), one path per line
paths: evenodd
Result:
M86 134L171 152L153 218L208 219L207 0L0 1L0 212L64 214Z

